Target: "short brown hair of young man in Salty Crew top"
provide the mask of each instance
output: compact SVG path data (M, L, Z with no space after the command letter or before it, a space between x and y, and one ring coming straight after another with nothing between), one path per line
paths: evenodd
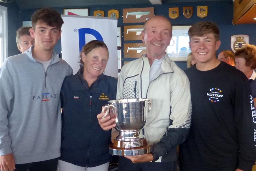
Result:
M203 37L206 34L213 33L215 41L219 40L220 30L218 26L211 21L199 21L193 24L188 30L189 39L193 36Z

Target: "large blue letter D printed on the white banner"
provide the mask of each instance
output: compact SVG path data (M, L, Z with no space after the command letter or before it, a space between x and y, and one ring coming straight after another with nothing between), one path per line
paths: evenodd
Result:
M99 32L97 32L94 29L90 29L90 28L81 28L78 29L78 35L79 35L79 52L82 51L83 46L85 45L85 34L92 34L96 40L102 41L103 42L103 38L100 35Z

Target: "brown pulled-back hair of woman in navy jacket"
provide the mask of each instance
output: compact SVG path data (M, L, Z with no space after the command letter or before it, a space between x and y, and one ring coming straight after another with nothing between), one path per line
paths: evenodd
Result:
M84 65L84 62L82 61L82 54L88 54L89 52L91 52L93 49L96 49L98 47L102 47L104 49L106 49L108 51L108 47L107 45L99 40L92 40L90 42L88 42L87 44L85 44L80 52L80 61L79 63Z

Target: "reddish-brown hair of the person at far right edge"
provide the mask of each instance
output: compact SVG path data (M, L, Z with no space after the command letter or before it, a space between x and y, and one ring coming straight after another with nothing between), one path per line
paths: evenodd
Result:
M235 53L235 58L244 58L245 66L251 69L256 68L256 46L246 44L241 49L238 49Z

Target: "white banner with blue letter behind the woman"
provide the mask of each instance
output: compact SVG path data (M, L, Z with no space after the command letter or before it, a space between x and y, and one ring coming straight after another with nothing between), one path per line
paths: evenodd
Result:
M104 74L118 77L117 68L117 18L61 15L62 59L73 68L74 74L80 68L79 53L91 40L103 40L108 46L108 64Z

